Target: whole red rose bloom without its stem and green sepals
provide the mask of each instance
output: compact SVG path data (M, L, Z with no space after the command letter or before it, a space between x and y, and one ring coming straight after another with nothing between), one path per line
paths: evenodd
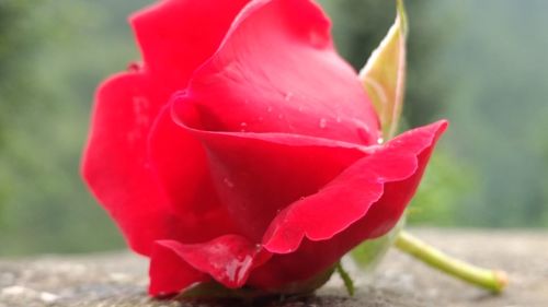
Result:
M378 144L312 1L168 0L132 24L144 63L99 88L83 174L151 295L281 290L398 222L446 122Z

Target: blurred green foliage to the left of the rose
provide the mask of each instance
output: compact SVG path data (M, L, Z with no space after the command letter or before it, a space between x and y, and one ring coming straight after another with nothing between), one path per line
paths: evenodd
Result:
M122 245L79 164L94 87L137 56L129 10L127 1L0 2L0 253Z

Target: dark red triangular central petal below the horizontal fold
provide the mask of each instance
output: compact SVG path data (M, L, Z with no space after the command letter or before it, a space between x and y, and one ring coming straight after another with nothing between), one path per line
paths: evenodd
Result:
M195 115L189 107L180 123L206 147L212 179L230 220L255 241L281 210L315 194L365 155L359 145L329 139L192 129L186 123Z

